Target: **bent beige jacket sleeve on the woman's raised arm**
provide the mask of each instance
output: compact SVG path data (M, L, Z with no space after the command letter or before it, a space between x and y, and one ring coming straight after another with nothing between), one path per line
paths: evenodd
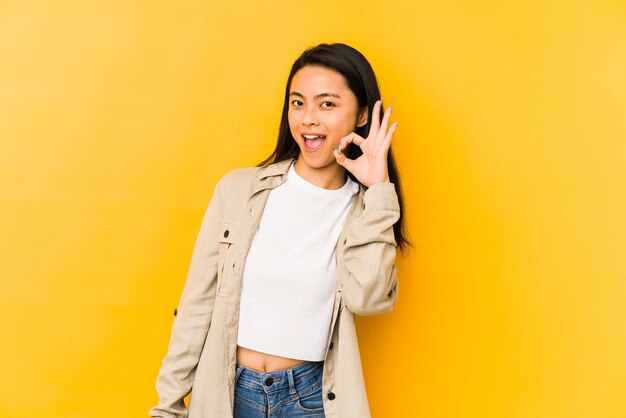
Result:
M396 303L396 240L400 204L393 183L376 183L363 196L363 212L347 227L344 305L358 315L388 312Z

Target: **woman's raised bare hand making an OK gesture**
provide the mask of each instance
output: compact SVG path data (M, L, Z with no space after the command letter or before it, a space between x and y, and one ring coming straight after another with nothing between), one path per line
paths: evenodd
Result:
M374 103L372 110L372 124L367 138L363 138L355 132L341 138L339 148L333 150L333 154L337 163L342 165L346 170L354 174L365 187L370 187L375 183L389 182L389 173L387 171L387 152L391 145L391 138L398 126L398 122L394 122L388 127L389 116L391 115L391 106L385 111L383 121L380 122L380 107L382 100ZM346 157L341 150L345 150L350 142L355 143L363 151L356 160Z

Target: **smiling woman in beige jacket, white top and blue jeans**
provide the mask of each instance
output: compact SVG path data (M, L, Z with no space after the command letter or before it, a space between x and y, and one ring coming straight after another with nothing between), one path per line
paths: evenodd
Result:
M410 245L390 114L354 48L295 61L276 149L214 190L151 416L370 416L354 314L393 308Z

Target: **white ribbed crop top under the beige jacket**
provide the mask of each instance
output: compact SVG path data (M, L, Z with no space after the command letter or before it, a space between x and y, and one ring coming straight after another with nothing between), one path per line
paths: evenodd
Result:
M237 344L263 353L324 360L337 286L335 245L359 185L327 190L292 164L272 189L243 271Z

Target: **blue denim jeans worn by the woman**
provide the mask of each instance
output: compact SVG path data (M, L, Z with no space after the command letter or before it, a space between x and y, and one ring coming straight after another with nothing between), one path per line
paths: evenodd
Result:
M234 418L324 418L323 361L261 372L237 363Z

